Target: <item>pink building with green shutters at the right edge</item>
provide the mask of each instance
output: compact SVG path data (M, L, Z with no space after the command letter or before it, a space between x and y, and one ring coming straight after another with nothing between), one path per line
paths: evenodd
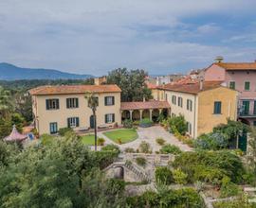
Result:
M205 80L220 80L240 92L238 117L256 126L256 61L214 62L205 70Z

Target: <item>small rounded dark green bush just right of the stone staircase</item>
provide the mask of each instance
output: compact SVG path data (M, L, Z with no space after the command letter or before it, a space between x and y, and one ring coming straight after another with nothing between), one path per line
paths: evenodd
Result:
M174 182L172 171L166 166L156 167L155 182L169 185Z

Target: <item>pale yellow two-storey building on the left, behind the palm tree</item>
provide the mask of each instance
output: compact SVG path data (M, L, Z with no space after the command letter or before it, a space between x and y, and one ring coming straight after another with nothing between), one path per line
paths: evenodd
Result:
M57 133L61 128L94 128L86 93L98 97L97 123L100 127L120 125L120 92L117 85L42 86L29 91L35 127L40 134Z

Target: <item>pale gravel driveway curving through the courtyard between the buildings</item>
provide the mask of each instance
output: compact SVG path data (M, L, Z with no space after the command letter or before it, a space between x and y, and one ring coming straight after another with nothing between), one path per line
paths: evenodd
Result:
M150 127L150 128L138 128L137 134L138 134L137 140L130 142L130 143L118 145L118 144L114 143L112 140L108 139L102 132L98 133L99 137L105 139L106 144L115 144L115 145L119 146L119 148L121 150L124 150L126 147L133 147L134 149L137 149L139 144L142 141L145 141L150 144L153 152L158 151L161 148L161 146L159 146L155 142L155 139L157 137L163 138L166 141L166 144L171 144L171 145L177 146L182 151L191 151L192 150L192 147L189 147L189 146L183 144L178 139L176 139L173 134L164 130L160 126L154 126L154 127Z

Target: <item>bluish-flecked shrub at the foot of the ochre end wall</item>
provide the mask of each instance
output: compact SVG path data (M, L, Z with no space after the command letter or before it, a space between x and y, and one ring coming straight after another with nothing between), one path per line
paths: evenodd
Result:
M201 149L218 150L227 148L228 145L228 137L220 132L202 134L194 141L194 147Z

